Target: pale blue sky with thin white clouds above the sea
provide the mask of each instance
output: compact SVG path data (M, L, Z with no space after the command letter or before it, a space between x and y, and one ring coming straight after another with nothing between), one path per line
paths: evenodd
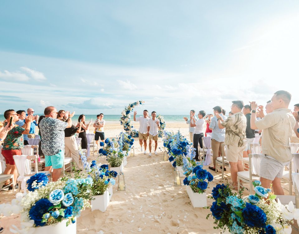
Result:
M0 1L0 113L299 103L299 1Z

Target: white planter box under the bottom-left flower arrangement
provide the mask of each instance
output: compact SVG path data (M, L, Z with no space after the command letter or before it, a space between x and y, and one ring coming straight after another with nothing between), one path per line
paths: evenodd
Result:
M75 223L70 223L66 227L68 219L64 219L61 222L51 224L43 227L35 227L33 234L76 234L77 233L77 218L75 217Z

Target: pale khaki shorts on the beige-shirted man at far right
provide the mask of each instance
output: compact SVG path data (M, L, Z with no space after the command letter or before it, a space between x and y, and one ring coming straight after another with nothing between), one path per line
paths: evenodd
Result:
M288 164L290 162L282 163L269 155L263 155L259 176L272 181L275 177L282 178L283 168Z

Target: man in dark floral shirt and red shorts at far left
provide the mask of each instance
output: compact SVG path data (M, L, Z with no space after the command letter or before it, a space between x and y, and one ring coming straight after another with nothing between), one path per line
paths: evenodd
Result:
M4 118L7 120L7 123L9 123L11 117L12 124L19 120L19 116L14 110L6 110L4 112ZM4 174L13 174L15 183L17 183L18 171L13 159L13 155L22 154L21 149L24 148L23 134L29 133L31 120L32 116L27 116L25 119L25 129L16 125L8 132L7 137L3 142L3 149L1 153L6 162ZM12 189L12 187L9 189Z

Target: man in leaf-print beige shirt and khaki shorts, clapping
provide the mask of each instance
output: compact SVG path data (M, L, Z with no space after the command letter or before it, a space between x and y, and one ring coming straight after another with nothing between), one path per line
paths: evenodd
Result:
M226 120L217 114L218 127L225 128L224 144L226 145L226 160L230 163L230 174L233 181L233 189L237 190L237 173L244 171L242 160L243 151L246 148L246 117L242 109L243 101L232 101L231 112L233 115Z

